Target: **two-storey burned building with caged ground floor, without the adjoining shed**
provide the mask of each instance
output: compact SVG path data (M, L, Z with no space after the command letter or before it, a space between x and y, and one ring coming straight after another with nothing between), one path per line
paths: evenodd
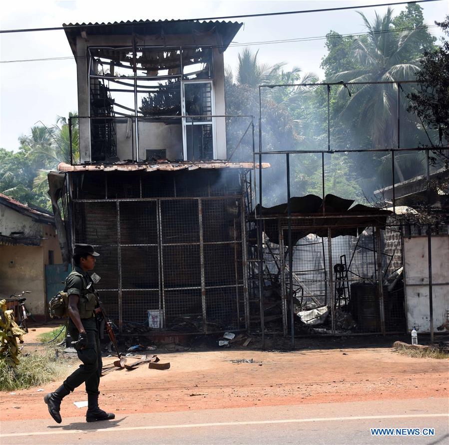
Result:
M100 253L96 287L120 329L247 328L253 163L227 161L223 65L241 23L64 26L79 152L72 144L70 165L49 181L53 204L62 197L66 257L75 243Z

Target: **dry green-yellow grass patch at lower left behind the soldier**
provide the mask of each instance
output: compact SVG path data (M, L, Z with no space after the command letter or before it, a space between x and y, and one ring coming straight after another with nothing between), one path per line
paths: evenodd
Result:
M4 360L0 360L0 391L43 385L59 378L68 367L66 360L56 358L53 348L21 354L19 361L15 368L10 368Z

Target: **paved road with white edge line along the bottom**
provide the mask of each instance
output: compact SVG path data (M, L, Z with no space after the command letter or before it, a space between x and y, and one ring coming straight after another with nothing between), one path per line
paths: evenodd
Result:
M2 423L2 444L449 444L449 399L305 404ZM435 429L375 437L371 428ZM416 431L415 431L416 432Z

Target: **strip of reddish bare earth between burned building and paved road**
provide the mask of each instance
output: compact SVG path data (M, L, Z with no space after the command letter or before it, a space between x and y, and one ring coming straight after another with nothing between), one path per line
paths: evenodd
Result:
M25 340L33 342L38 333L50 329L30 331ZM298 340L298 348L301 342ZM334 344L333 349L280 352L236 346L150 353L156 353L161 362L170 362L171 368L158 371L142 365L134 371L105 375L100 383L103 409L130 414L362 400L388 404L395 399L449 395L448 359L411 358L391 347L335 349ZM252 359L253 363L232 362L241 359ZM137 357L128 358L128 363L135 360ZM113 357L103 358L104 365L113 361ZM78 363L73 359L71 369ZM1 421L49 417L43 396L62 380L41 386L44 391L40 392L38 388L15 391L14 395L1 392ZM84 400L87 397L82 387L66 397L61 407L63 417L82 416L85 408L78 409L73 402Z

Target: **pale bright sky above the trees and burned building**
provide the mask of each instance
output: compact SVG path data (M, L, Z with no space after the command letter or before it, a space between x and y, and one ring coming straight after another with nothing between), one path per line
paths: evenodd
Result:
M139 19L176 19L237 14L332 8L387 3L389 0L303 0L303 1L3 1L0 29L61 26L62 23L108 22ZM393 1L391 1L393 2ZM425 23L433 25L449 13L449 0L422 3ZM392 6L395 15L406 5ZM371 21L375 12L384 14L387 6L364 8ZM235 68L238 53L246 43L302 37L324 37L331 29L341 34L365 32L356 9L308 14L241 18L244 26L224 53L225 64ZM430 32L441 36L438 28ZM323 78L320 68L326 54L325 40L251 44L259 50L260 62L285 62L286 68L300 67ZM0 35L0 61L48 57L69 57L71 50L62 30ZM77 109L76 65L74 59L0 63L0 147L16 150L18 138L28 134L39 121L46 126L57 116L68 116Z

